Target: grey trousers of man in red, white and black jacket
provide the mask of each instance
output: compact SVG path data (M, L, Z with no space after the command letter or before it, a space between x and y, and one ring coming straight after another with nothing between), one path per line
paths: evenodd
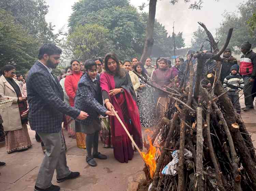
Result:
M246 107L253 108L253 98L252 98L252 89L253 82L250 82L251 76L243 76L244 80L244 103Z

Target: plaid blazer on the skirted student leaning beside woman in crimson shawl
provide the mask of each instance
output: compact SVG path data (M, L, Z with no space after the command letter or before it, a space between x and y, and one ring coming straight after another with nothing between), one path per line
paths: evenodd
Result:
M89 75L85 73L77 86L75 108L86 112L89 116L85 120L76 119L76 121L84 125L89 125L99 115L106 116L107 109L102 106L102 103L100 75L98 74L96 76L96 82L93 82Z

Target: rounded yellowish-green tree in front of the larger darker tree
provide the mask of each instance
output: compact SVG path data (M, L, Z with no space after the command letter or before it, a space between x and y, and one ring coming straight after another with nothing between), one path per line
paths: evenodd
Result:
M113 48L109 30L98 24L78 25L61 43L63 56L86 60L105 55Z

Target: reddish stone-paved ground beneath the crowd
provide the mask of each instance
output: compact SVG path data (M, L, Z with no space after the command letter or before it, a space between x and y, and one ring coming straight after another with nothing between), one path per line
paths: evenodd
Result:
M240 100L244 106L243 99ZM241 116L246 123L249 132L256 132L256 110L244 112ZM86 150L76 147L75 139L68 138L67 161L72 171L80 171L81 176L74 180L57 184L54 175L53 184L61 187L62 191L126 191L129 176L138 174L144 164L139 153L129 163L119 163L114 159L113 150L102 148L99 144L99 152L108 155L108 160L97 160L97 167L89 167L85 162ZM5 144L0 143L0 161L6 162L6 166L0 168L1 191L32 191L38 170L43 158L41 144L35 141L34 131L29 130L33 147L25 152L7 154ZM252 140L256 135L252 134ZM256 144L254 142L254 146Z

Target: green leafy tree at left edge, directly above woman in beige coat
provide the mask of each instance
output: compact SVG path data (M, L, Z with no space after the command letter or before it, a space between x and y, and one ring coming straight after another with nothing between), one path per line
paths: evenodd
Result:
M37 59L39 46L10 13L0 9L0 67L10 63L25 73Z

